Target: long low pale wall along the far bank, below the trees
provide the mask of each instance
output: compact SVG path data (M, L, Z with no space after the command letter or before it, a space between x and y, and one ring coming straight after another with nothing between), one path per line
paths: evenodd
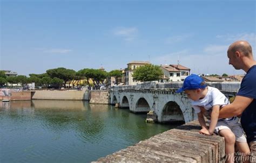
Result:
M32 100L89 100L89 91L82 90L36 90Z

